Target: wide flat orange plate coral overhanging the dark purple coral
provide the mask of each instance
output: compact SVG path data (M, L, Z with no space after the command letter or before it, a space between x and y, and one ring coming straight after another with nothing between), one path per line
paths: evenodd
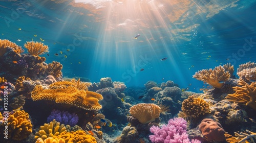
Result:
M36 85L31 92L32 100L50 100L56 103L77 106L86 110L99 110L102 106L98 103L103 97L93 91L79 90L72 82L55 82L49 89Z

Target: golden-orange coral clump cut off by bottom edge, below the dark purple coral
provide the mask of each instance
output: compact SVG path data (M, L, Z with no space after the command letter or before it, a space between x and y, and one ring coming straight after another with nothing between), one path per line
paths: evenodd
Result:
M63 138L66 142L74 142L74 143L97 143L96 138L90 134L86 134L85 131L71 131L71 132L61 132L58 136L58 139Z

